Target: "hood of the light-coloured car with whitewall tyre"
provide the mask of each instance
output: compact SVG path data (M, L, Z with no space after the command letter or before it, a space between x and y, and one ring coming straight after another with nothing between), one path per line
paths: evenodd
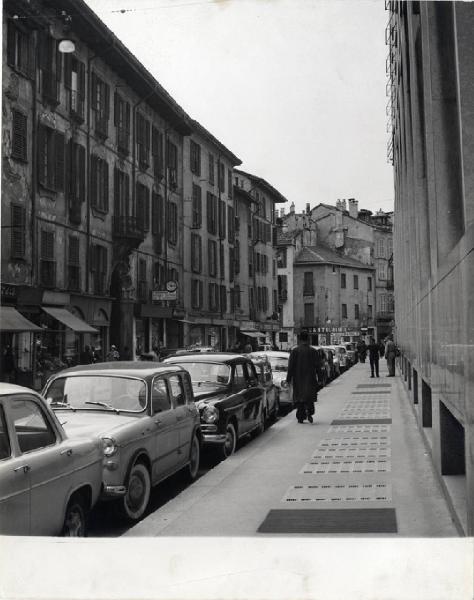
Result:
M57 410L56 417L70 437L95 437L110 435L122 427L136 423L137 418L125 414L99 411Z

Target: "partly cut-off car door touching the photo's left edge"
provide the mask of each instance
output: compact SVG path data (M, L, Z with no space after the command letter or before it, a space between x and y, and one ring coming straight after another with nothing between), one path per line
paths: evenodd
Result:
M9 397L4 397L8 409ZM0 401L0 534L30 533L30 474L23 456L15 456L4 405Z

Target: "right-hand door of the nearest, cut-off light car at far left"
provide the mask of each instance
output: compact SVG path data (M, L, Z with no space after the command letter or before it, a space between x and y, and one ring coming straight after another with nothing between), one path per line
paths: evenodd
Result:
M10 403L10 416L30 475L30 533L59 533L74 477L73 451L35 396L16 395Z

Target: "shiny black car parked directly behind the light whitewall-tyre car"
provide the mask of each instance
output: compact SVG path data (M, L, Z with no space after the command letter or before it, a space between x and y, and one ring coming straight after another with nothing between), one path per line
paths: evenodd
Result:
M196 353L165 360L190 376L201 417L203 443L221 458L235 452L237 441L265 427L264 393L252 361L242 354Z

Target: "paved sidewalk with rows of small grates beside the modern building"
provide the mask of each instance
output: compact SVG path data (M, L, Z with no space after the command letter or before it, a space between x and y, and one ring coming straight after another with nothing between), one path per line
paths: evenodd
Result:
M320 392L313 424L290 413L125 536L457 537L403 386L380 366L372 379L355 365ZM382 528L354 529L366 517Z

